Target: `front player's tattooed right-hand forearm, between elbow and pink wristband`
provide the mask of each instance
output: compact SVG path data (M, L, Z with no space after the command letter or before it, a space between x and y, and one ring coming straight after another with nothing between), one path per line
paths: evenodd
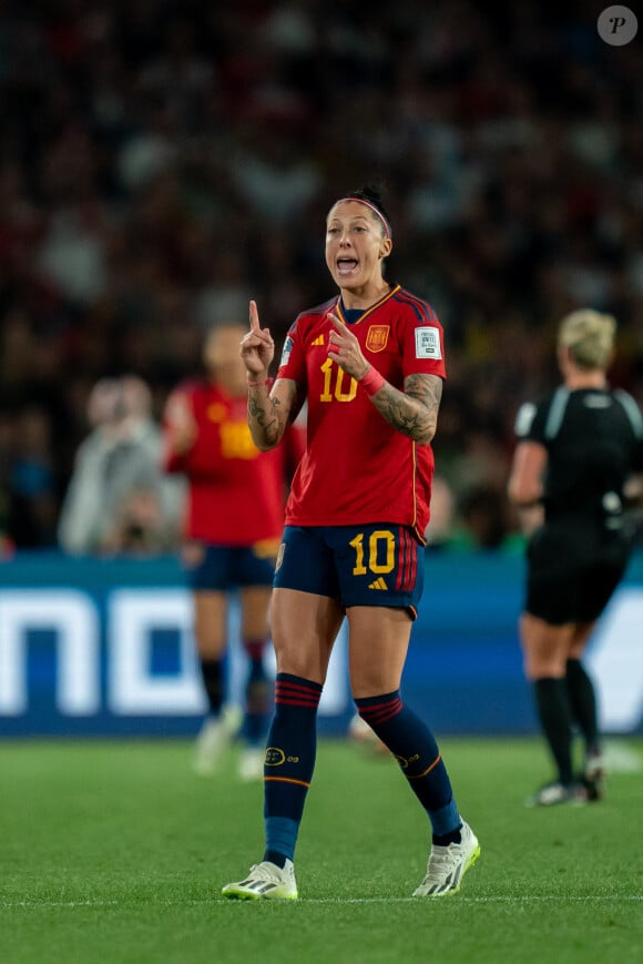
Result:
M389 425L419 445L428 445L438 426L441 397L442 379L438 375L409 375L404 392L386 382L370 400Z

